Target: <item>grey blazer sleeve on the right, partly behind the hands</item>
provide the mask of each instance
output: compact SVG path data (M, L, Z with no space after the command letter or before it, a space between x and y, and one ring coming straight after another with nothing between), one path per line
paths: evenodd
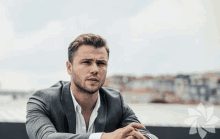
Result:
M136 117L135 113L133 112L133 110L126 104L124 103L123 97L120 94L120 98L121 98L121 102L122 102L122 118L121 118L121 123L119 125L119 128L125 127L127 125L129 125L130 123L140 123L141 122L138 120L138 118ZM138 130L141 134L143 134L144 136L148 137L149 139L158 139L155 135L151 134L149 130L145 129L145 130Z

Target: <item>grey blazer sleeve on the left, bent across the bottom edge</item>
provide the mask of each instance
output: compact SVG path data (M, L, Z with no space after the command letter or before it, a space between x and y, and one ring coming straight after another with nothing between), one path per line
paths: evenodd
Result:
M39 91L27 102L26 131L30 139L89 139L89 133L58 133L48 117L48 101L46 93Z

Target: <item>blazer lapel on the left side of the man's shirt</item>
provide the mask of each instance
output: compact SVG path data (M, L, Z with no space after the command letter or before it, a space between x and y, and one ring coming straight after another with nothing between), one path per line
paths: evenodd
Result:
M70 94L70 82L64 85L61 94L61 103L67 117L69 133L76 134L76 114L72 96Z

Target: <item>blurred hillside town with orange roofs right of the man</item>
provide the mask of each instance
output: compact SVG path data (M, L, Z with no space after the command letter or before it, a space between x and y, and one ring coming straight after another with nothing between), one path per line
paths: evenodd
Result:
M176 76L108 77L104 86L118 89L128 103L167 102L220 105L220 73Z

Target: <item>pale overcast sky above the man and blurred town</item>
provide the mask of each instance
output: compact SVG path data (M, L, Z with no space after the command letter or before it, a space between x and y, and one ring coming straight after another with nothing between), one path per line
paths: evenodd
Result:
M107 76L220 71L218 0L0 0L0 89L70 80L67 49L82 33L110 48Z

